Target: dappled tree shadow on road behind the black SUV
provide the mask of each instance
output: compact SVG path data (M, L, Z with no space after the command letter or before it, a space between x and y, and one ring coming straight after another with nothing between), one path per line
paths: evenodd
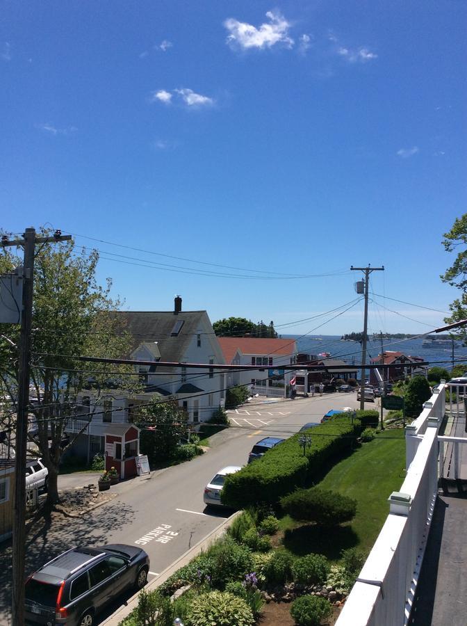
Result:
M134 518L133 509L122 502L101 506L81 517L70 517L56 511L44 512L42 517L31 524L26 536L26 577L67 549L79 545L111 543L110 535L113 530L132 522ZM0 545L0 562L0 625L10 626L11 540ZM133 593L127 593L126 597L131 597ZM120 604L122 598L117 607Z

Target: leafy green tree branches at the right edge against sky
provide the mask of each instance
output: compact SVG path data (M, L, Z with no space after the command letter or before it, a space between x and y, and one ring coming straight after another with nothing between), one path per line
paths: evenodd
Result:
M443 246L446 252L458 250L452 266L441 275L443 282L447 282L452 287L457 287L462 292L461 297L456 298L449 305L451 315L444 319L446 323L453 323L467 318L467 213L457 218L451 230L445 232ZM465 342L467 328L461 327L456 332L459 332Z

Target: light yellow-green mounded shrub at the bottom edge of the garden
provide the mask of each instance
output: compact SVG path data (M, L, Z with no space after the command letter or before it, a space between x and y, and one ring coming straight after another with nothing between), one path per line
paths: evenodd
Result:
M191 626L252 626L254 616L243 598L211 591L195 597L188 611Z

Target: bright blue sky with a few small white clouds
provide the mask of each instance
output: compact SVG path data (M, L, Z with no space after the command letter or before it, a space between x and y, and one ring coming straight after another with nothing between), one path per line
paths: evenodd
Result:
M350 265L384 265L370 330L425 332L443 313L388 298L457 297L439 274L467 206L466 18L450 0L2 1L0 226L79 234L127 308L181 294L212 321L309 318L356 298ZM316 333L361 330L362 310Z

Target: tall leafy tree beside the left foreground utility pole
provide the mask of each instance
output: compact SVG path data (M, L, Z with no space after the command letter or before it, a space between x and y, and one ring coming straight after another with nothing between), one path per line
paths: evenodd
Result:
M43 232L47 234L47 231ZM36 252L31 386L38 401L31 405L29 412L31 421L37 426L39 454L49 470L48 504L58 501L58 467L63 453L87 428L84 416L79 415L76 408L77 394L93 373L92 419L102 411L101 401L106 392L117 386L118 374L132 371L126 366L96 366L76 359L76 355L120 357L129 352L131 345L129 335L112 315L120 303L110 298L110 280L106 287L97 283L98 260L95 250L80 252L72 241L47 244ZM0 257L0 272L11 271L18 264L21 259L6 252ZM17 408L18 396L19 326L2 325L1 334L1 393L8 399L13 412ZM113 372L111 376L110 371ZM122 376L118 385L131 391L131 378ZM83 427L64 444L65 428L75 417L81 418ZM13 428L14 422L8 426Z

